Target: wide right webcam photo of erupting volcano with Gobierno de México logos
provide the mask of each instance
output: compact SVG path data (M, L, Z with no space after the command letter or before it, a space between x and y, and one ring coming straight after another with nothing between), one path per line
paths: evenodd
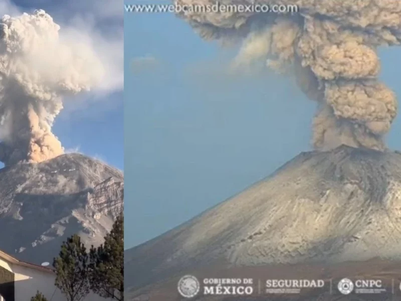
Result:
M124 0L125 299L401 300L400 44L398 0Z

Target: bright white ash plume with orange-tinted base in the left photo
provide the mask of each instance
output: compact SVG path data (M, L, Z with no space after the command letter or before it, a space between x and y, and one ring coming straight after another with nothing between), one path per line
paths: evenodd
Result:
M0 160L41 162L63 154L51 132L62 97L88 91L103 76L85 43L63 39L44 11L0 24Z

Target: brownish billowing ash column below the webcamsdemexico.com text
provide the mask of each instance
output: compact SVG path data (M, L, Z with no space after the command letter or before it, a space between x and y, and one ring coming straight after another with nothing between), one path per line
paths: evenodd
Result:
M179 5L214 5L214 0L175 0ZM235 67L263 60L295 75L301 90L318 102L313 145L339 144L385 149L393 121L394 93L377 76L377 47L401 39L399 0L239 0L221 4L266 4L298 8L297 13L186 11L180 16L205 39L243 46ZM199 8L199 7L198 7ZM396 67L396 66L394 66Z

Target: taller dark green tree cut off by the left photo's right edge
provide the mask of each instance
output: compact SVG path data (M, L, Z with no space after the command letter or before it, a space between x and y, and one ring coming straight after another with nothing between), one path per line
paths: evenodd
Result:
M121 213L113 228L90 256L91 289L103 297L124 300L124 216Z

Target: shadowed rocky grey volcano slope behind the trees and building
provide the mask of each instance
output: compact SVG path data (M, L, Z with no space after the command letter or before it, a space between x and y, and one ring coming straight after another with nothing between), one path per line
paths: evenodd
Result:
M78 233L99 245L123 208L123 174L80 154L0 170L0 250L52 262Z

